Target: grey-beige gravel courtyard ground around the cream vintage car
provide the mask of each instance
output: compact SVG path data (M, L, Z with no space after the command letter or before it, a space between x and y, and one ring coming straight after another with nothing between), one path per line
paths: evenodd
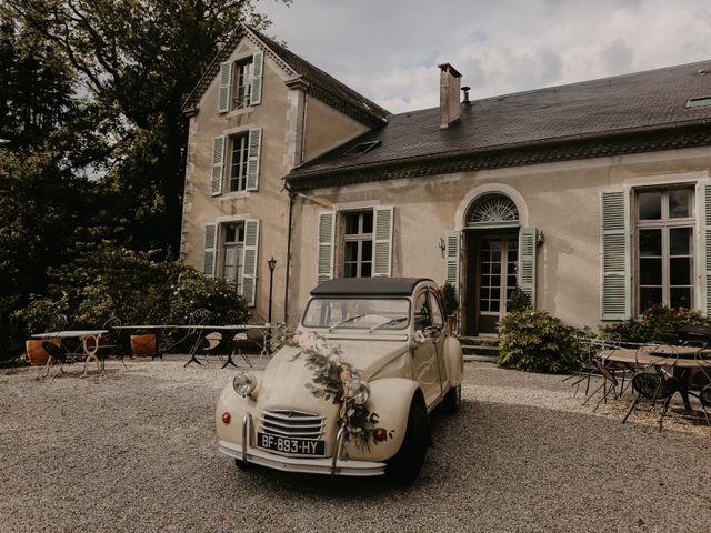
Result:
M559 376L467 363L462 411L394 489L236 469L213 429L232 373L184 361L0 372L0 531L711 532L708 429L621 425Z

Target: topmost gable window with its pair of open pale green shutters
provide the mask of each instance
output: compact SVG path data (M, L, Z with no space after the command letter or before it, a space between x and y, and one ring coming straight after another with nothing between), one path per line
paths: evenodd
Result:
M220 64L219 113L261 103L263 66L264 54L262 52Z

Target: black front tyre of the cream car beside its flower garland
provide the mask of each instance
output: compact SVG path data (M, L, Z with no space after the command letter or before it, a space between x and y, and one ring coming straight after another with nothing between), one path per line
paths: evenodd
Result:
M385 476L391 483L407 485L420 473L427 455L429 423L422 401L414 398L410 404L408 429L402 445L387 462Z

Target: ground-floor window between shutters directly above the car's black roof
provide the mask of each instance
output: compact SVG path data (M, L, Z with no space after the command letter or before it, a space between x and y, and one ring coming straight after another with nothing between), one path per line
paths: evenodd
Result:
M370 278L373 263L373 212L343 213L343 278Z

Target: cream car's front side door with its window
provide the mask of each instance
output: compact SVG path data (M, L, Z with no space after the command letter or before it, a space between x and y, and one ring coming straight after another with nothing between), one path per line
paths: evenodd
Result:
M439 310L439 308L438 308ZM440 311L441 321L441 311ZM438 350L441 352L441 332L433 328L429 292L422 289L414 298L414 329L424 334L424 342L412 350L413 378L420 383L428 408L442 393Z

